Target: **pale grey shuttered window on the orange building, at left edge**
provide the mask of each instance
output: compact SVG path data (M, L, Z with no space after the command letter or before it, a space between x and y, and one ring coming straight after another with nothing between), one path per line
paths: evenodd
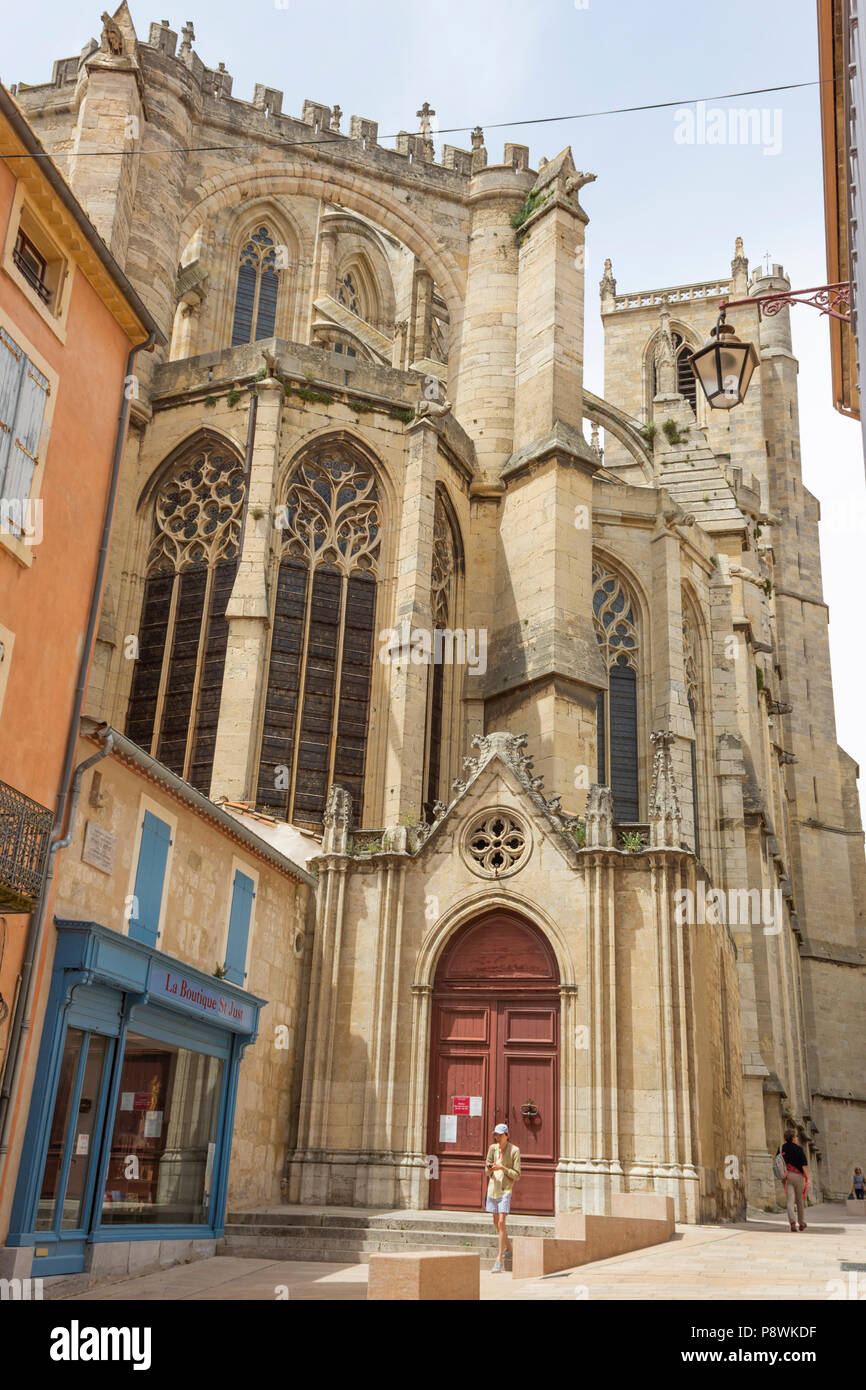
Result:
M31 496L39 464L39 441L49 399L49 381L24 349L0 328L0 498L22 505ZM8 512L13 525L19 513ZM4 513L6 520L6 513Z

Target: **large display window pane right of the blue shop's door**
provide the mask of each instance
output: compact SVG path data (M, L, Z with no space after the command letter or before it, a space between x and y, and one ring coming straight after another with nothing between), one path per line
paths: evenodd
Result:
M224 1062L126 1034L103 1226L207 1223Z

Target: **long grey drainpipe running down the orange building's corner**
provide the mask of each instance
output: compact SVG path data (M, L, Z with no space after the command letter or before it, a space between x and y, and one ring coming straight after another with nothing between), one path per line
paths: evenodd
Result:
M60 778L60 790L57 792L57 810L54 815L54 824L51 827L51 842L49 845L49 855L46 863L46 872L42 880L42 890L39 892L39 899L36 908L31 916L31 924L28 927L26 945L24 952L24 965L21 967L21 984L18 988L18 998L15 999L15 1013L8 1033L8 1047L6 1055L6 1069L3 1073L3 1088L0 1090L0 1187L6 1180L6 1159L8 1154L8 1123L13 1113L13 1099L18 1091L21 1083L21 1072L24 1069L24 1054L26 1051L25 1044L29 1036L35 994L36 994L36 973L35 966L42 958L42 948L44 942L44 931L49 913L49 899L51 894L51 883L54 878L54 863L57 859L57 851L65 849L72 838L74 831L74 816L78 805L78 794L81 791L81 778L85 769L90 767L95 762L106 758L111 749L111 737L108 735L104 741L104 748L100 749L93 758L88 758L86 762L81 763L78 769L74 767L75 763L75 748L78 745L78 724L81 720L81 712L85 702L85 689L88 685L88 673L90 670L90 651L93 648L93 638L96 637L96 624L99 620L99 609L103 594L103 582L106 578L106 566L108 563L108 542L111 539L111 523L114 521L114 506L117 502L117 489L120 484L121 463L124 457L124 443L126 439L126 424L129 420L129 395L126 393L126 384L132 377L132 368L135 366L135 359L138 353L145 349L153 348L157 341L157 331L153 329L145 342L136 343L131 349L126 357L126 371L124 373L124 391L121 395L121 404L117 417L117 430L114 434L114 457L111 460L111 481L108 484L108 496L106 499L106 514L103 520L103 532L99 545L99 560L96 564L96 577L93 580L93 592L90 595L90 612L88 614L88 628L85 632L83 645L81 649L81 662L78 666L78 681L75 685L75 698L72 701L72 716L70 719L70 731L67 734L67 749L63 763L63 773ZM64 821L67 821L67 801L70 798L70 788L72 788L72 801L70 805L68 815L68 828L63 834Z

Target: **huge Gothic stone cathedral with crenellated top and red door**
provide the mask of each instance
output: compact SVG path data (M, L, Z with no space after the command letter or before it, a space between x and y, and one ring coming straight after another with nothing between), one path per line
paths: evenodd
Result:
M436 152L428 103L385 146L103 21L17 88L168 343L88 709L309 845L285 1200L480 1209L502 1119L521 1211L741 1216L785 1123L844 1197L866 866L788 310L733 314L738 409L689 364L783 267L735 228L701 284L606 261L602 399L571 150Z

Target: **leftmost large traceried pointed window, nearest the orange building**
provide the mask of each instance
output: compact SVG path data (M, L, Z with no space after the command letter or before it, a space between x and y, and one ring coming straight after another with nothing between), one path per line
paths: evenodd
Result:
M129 738L206 795L243 498L243 464L209 438L186 450L161 484L126 717Z

